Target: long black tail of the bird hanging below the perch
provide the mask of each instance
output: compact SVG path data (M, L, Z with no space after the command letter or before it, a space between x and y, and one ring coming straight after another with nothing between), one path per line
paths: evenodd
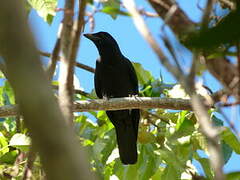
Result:
M120 159L123 164L137 162L137 142L133 126L115 126Z

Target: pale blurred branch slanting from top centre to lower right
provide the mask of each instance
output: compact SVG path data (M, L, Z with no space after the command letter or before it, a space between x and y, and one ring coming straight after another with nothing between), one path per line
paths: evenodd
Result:
M191 97L191 103L192 107L194 108L194 111L197 115L197 118L199 120L199 124L202 130L202 133L205 135L208 141L208 149L210 153L210 161L211 165L213 167L214 173L215 173L215 179L224 179L224 174L222 171L222 154L221 149L218 144L218 130L212 126L210 123L210 117L208 116L207 109L204 105L204 102L202 99L195 94L194 86L191 87L188 85L188 79L182 74L178 68L171 65L166 58L166 56L163 54L162 50L159 48L158 44L154 40L153 36L151 35L150 31L148 30L144 20L139 15L139 12L136 10L135 4L133 0L124 0L125 6L129 10L129 12L132 14L132 18L134 20L134 23L138 29L138 31L142 34L142 36L147 40L147 42L151 45L152 49L155 51L155 53L158 55L159 60L162 62L162 64L170 71L173 76L180 81L180 83L183 85L185 91L190 95ZM209 4L209 3L208 3ZM210 7L207 9L207 13L205 13L204 21L207 22L208 20L208 11ZM206 20L205 20L206 19ZM195 65L194 65L195 66Z

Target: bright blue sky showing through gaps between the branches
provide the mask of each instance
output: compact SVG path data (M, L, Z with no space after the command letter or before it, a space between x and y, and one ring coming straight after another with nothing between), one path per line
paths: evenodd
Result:
M136 2L139 7L145 7L146 10L152 11L146 1L137 0ZM178 2L180 4L180 7L183 8L186 14L189 15L193 21L200 21L201 10L196 6L198 0L178 0ZM205 0L200 0L199 2L200 6L204 7ZM63 7L62 0L59 2L59 7ZM52 25L48 25L37 15L35 11L31 11L29 22L35 35L37 46L40 50L45 52L52 51L56 41L58 26L61 20L62 12L58 12ZM136 30L135 26L132 23L132 20L129 17L119 16L116 20L113 20L106 14L98 13L95 16L95 20L95 32L107 31L112 34L113 37L118 41L123 54L131 61L141 63L145 69L151 71L154 77L159 77L159 75L162 74L165 83L175 82L172 76L159 63L156 55ZM145 20L150 27L153 35L162 46L163 43L160 40L160 30L163 23L156 18L145 18ZM88 25L86 25L84 32L89 32ZM187 69L187 65L189 65L191 62L191 53L185 48L181 47L181 45L174 39L173 34L167 28L166 33L173 42L177 53L181 54L181 64L183 64L184 68ZM83 64L95 67L95 60L97 57L98 52L93 43L82 37L77 60ZM90 92L93 89L93 74L82 69L76 69L76 75L80 81L81 87L84 88L85 91ZM221 87L219 83L208 73L205 73L203 80L204 83L213 91L216 91ZM237 111L238 117L236 117L236 122L239 122L239 108ZM230 108L225 110L225 113L228 117L231 117L231 112L232 109ZM239 155L234 154L227 165L225 165L225 171L240 171L240 166L236 166L236 164L239 164L239 161ZM196 164L196 166L201 171L200 165Z

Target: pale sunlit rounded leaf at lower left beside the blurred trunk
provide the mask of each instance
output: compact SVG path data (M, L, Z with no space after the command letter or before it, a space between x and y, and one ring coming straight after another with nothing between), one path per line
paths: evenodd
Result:
M30 144L31 144L31 139L25 134L20 134L20 133L15 134L9 142L9 146L18 148L24 152L29 150Z

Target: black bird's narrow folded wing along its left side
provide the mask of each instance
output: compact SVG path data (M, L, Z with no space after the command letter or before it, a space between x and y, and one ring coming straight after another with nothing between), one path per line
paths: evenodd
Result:
M95 86L97 97L102 99L103 94L102 94L102 87L101 87L100 71L101 71L100 60L97 60L95 74L94 74L94 86Z

